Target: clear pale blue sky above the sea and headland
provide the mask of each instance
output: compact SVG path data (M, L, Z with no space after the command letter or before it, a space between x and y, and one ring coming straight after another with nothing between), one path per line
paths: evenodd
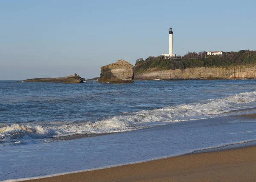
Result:
M2 0L0 80L99 77L124 59L256 50L255 0Z

